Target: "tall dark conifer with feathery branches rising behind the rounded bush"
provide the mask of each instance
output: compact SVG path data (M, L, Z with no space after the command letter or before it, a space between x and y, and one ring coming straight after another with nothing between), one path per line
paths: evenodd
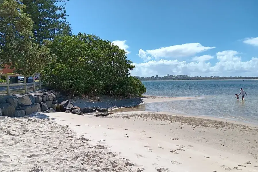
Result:
M42 44L44 39L52 40L57 34L71 35L70 24L66 21L65 5L57 5L69 0L22 0L24 12L33 20L35 42Z

